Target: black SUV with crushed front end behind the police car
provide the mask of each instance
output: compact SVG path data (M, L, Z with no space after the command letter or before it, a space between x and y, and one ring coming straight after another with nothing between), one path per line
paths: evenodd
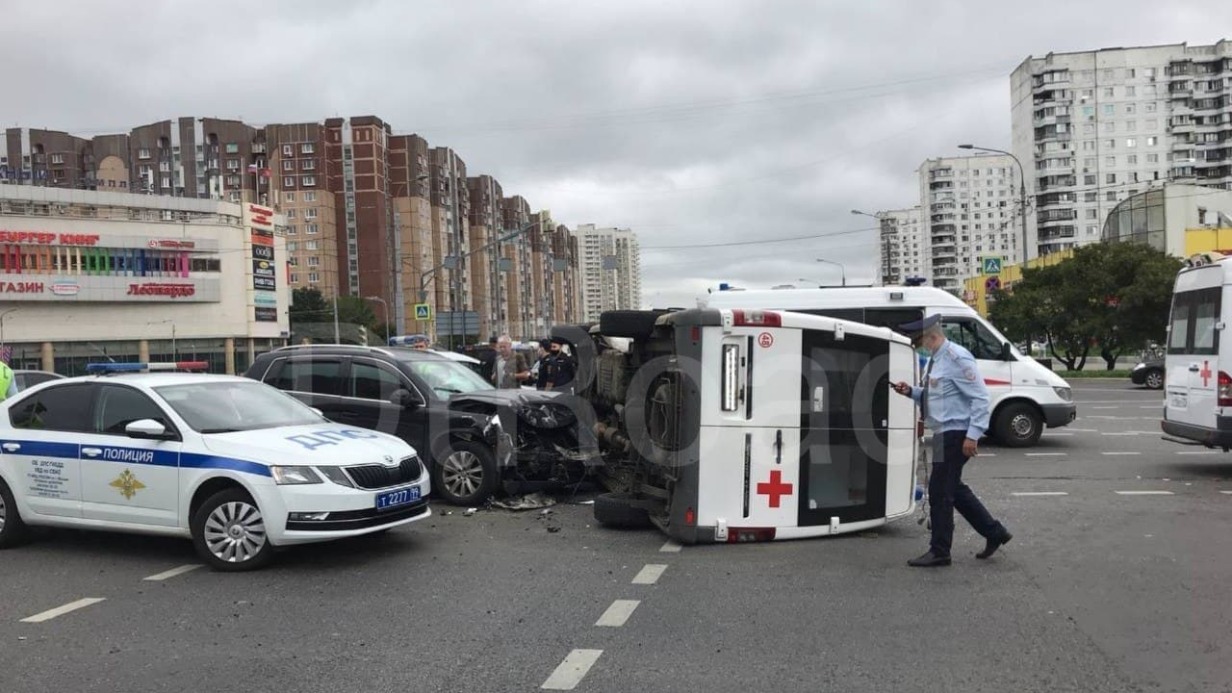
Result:
M313 344L256 358L245 376L330 420L391 433L432 475L432 494L476 506L529 483L577 483L598 445L556 392L496 390L442 354L398 346Z

